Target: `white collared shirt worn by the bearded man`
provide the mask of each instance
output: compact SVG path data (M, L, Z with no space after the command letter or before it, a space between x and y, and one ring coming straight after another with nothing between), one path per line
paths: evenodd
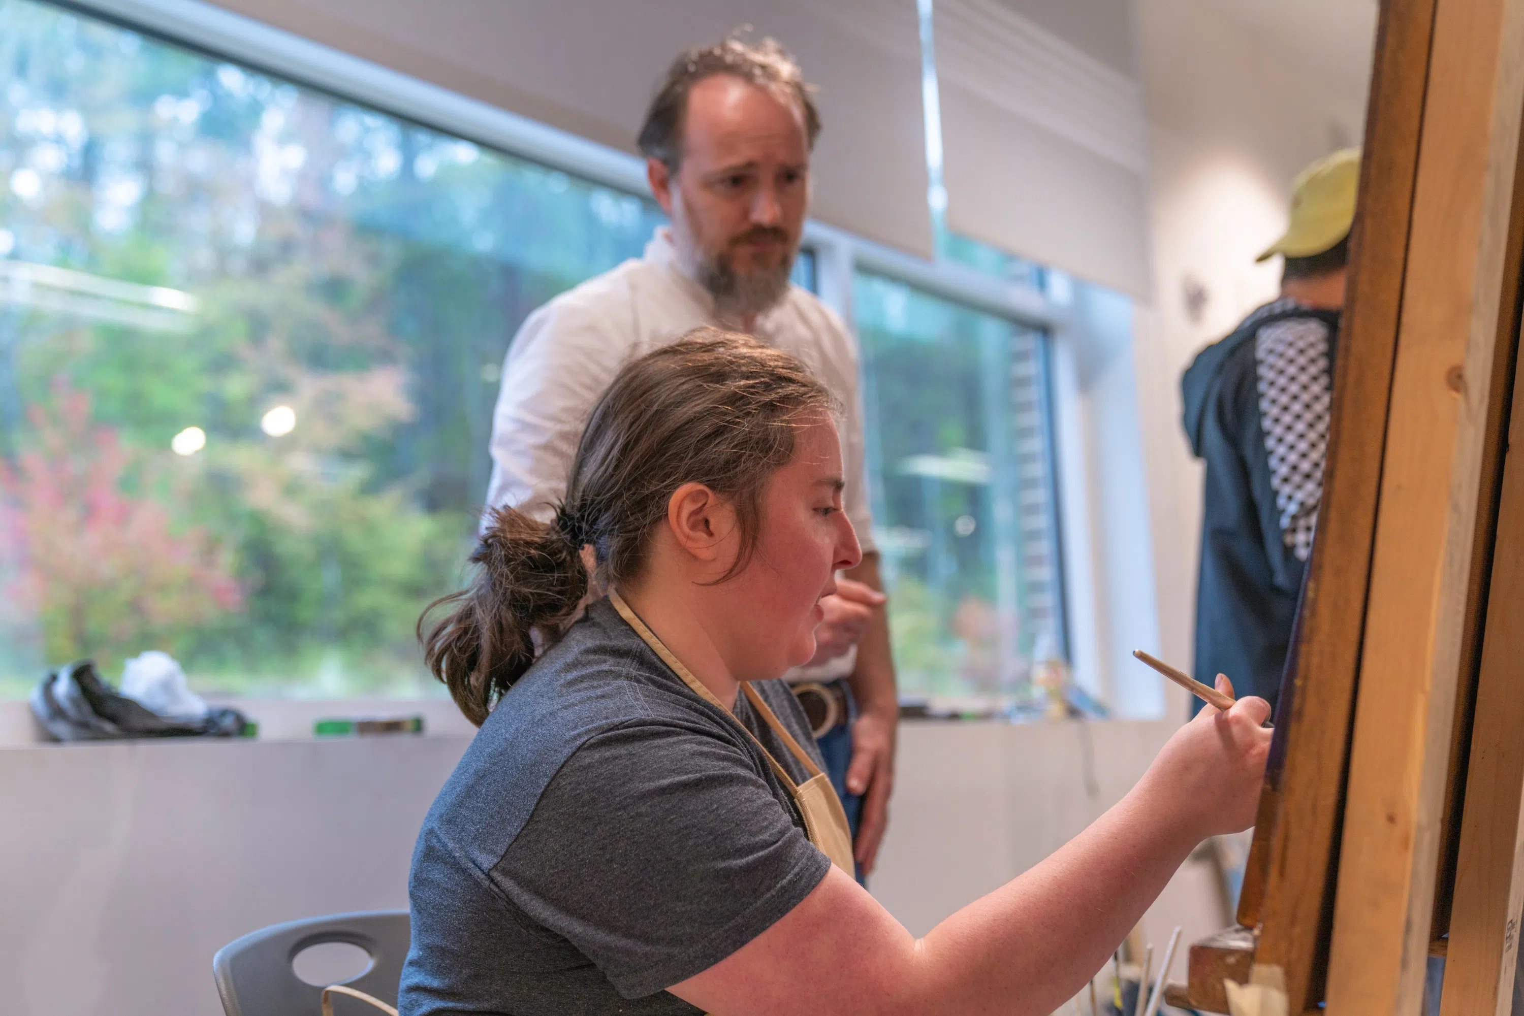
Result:
M565 497L582 428L619 369L703 324L724 327L709 292L678 268L664 227L646 244L643 257L588 279L530 314L503 361L488 504L512 504L549 521ZM789 286L779 305L757 318L753 334L802 359L843 405L843 506L864 553L872 550L855 340L831 308L800 286Z

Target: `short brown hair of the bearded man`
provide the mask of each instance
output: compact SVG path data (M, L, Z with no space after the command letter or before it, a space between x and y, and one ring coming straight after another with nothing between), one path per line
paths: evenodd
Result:
M765 38L756 46L732 37L713 46L684 50L668 67L657 94L646 110L636 142L640 154L657 158L677 172L683 161L683 123L687 119L687 96L700 81L715 75L741 78L794 102L805 117L805 137L814 149L820 136L820 110L815 88L805 84L805 75L777 40Z

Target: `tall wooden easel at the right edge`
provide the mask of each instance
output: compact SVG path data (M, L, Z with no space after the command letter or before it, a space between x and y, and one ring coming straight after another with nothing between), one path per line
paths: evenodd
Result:
M1417 1016L1440 954L1442 1016L1510 1011L1521 123L1524 0L1382 3L1318 538L1239 926L1192 946L1172 1004L1227 1011L1233 979L1294 1014Z

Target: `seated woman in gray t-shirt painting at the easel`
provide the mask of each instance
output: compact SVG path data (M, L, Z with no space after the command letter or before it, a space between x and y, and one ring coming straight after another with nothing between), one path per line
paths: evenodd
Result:
M424 637L482 730L413 858L404 1014L1050 1013L1201 839L1253 821L1268 707L1244 699L916 940L853 880L776 681L858 562L843 481L826 390L704 329L619 373L552 524L497 513Z

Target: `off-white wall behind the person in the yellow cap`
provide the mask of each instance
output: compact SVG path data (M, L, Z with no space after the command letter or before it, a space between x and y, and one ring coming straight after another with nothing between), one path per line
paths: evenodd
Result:
M1254 256L1285 227L1297 172L1359 143L1376 8L1138 0L1137 11L1155 292L1138 306L1134 363L1161 650L1189 666L1201 472L1181 431L1180 375L1276 296L1279 264ZM1187 277L1209 294L1199 320L1186 312Z

